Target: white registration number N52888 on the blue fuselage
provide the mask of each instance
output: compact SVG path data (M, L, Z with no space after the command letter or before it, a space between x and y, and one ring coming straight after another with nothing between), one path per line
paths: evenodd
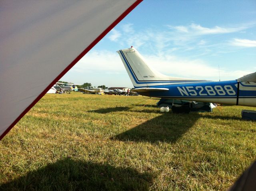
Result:
M182 96L234 96L235 90L230 85L224 86L185 86L177 87Z

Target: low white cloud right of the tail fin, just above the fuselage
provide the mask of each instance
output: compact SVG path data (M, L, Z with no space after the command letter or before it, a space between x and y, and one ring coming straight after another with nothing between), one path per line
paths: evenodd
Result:
M158 72L173 77L194 78L201 80L219 80L218 66L213 67L203 60L186 60L176 56L145 56L146 62ZM232 68L223 68L220 70L220 79L235 80L246 74L252 73L245 70L232 70Z

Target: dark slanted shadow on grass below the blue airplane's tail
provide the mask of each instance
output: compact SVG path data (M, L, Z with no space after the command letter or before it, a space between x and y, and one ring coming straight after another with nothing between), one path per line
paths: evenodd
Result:
M194 125L199 117L200 115L197 113L193 115L163 113L137 127L112 137L112 139L120 141L147 141L151 143L158 141L175 143Z

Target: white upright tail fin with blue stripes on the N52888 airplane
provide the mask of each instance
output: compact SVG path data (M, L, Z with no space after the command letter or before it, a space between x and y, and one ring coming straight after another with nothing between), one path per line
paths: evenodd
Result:
M188 78L176 78L161 74L148 66L140 53L133 47L118 50L117 53L119 54L124 67L132 80L134 88L205 81Z

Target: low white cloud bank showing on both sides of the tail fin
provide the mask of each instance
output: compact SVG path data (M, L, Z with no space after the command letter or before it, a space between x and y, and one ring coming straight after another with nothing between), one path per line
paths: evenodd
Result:
M218 81L219 78L218 66L210 66L203 60L188 60L169 54L143 55L143 57L152 68L168 76L215 81ZM116 52L107 50L89 52L71 70L83 73L84 76L88 74L102 74L104 76L126 73L120 56ZM221 80L234 80L250 73L252 72L224 68L220 70L220 78Z

